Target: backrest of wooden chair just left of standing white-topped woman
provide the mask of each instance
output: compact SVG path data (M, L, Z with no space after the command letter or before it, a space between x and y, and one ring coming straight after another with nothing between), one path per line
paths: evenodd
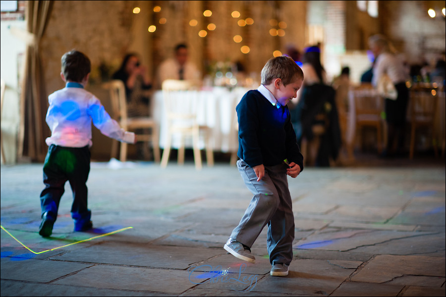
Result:
M354 86L350 88L349 95L352 96L356 118L364 115L381 116L384 110L383 99L378 91L369 84Z

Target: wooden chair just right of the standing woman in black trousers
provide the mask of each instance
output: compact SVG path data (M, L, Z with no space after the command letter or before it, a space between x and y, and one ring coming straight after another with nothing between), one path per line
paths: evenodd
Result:
M409 97L410 145L409 158L413 159L416 132L420 128L430 134L431 145L438 157L438 144L435 135L435 116L438 108L438 92L436 88L412 87Z

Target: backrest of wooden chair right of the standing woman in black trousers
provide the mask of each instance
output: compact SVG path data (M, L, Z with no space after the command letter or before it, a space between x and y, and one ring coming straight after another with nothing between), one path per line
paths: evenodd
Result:
M433 123L438 106L438 89L412 88L409 97L409 117L418 123Z

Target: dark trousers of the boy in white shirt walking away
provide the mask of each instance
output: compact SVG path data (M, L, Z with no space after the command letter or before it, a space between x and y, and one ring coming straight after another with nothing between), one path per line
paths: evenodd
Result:
M48 212L56 220L60 198L68 181L73 192L71 217L75 226L90 221L91 211L87 207L87 179L90 173L90 148L65 148L51 145L43 167L45 189L40 194L42 216Z

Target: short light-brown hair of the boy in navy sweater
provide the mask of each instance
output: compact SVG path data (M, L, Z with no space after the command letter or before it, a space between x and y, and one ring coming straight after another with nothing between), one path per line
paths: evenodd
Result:
M280 78L283 85L293 83L297 79L303 80L303 71L299 65L288 56L274 57L268 60L262 69L262 85L269 85Z

